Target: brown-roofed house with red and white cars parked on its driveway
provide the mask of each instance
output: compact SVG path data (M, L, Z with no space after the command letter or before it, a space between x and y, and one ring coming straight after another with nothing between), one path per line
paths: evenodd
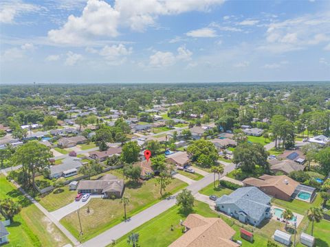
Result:
M78 184L78 193L103 195L104 198L120 198L124 191L124 180L111 174L105 174L98 180L81 180Z

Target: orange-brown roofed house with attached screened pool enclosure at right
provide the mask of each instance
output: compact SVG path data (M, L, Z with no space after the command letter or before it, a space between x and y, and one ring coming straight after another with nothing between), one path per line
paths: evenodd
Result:
M309 199L308 201L310 202L310 200L314 198L316 192L315 188L300 185L300 183L286 175L263 175L259 178L245 178L242 182L245 187L258 187L268 195L286 201L292 200L293 198L301 199L299 196L296 196L304 191L305 193L309 193L309 198L307 199Z

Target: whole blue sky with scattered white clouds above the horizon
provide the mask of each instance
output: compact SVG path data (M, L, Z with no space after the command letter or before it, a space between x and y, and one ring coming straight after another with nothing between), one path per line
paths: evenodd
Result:
M1 1L1 83L330 80L330 1Z

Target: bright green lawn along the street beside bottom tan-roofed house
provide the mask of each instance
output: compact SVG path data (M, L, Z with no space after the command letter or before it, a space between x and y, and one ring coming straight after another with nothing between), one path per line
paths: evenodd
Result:
M212 211L208 204L198 201L195 201L193 213L199 213L204 217L217 217L217 213ZM168 246L184 234L181 231L182 226L180 225L180 220L185 219L186 215L181 214L179 207L174 206L157 217L154 217L152 220L149 220L148 222L135 228L131 233L139 233L139 246ZM174 226L173 231L170 230L171 225ZM130 246L127 243L127 237L131 233L128 233L118 239L115 246Z

